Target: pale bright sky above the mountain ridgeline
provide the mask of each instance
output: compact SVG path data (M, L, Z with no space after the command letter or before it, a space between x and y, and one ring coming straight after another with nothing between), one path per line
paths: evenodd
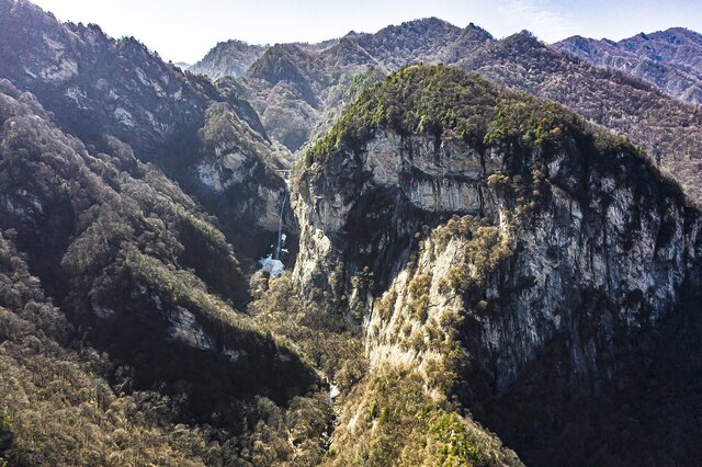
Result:
M59 20L133 35L162 58L193 62L217 42L318 42L349 31L438 16L497 37L530 30L547 43L579 34L620 39L684 26L702 32L700 0L33 0Z

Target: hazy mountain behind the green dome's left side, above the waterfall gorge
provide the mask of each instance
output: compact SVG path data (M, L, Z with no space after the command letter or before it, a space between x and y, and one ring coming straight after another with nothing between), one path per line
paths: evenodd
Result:
M294 151L322 135L365 87L401 66L438 62L461 34L429 18L375 34L351 32L321 50L278 44L251 66L242 84L267 130Z

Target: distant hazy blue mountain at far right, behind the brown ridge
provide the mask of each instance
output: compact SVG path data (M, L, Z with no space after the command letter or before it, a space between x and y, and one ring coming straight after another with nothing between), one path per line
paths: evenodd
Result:
M675 98L702 103L702 35L683 27L619 42L573 36L554 47L608 69L625 71Z

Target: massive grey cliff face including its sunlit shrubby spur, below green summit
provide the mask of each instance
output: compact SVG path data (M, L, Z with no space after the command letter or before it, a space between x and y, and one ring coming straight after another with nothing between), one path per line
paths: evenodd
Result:
M349 310L371 372L417 371L429 394L455 394L529 452L513 431L544 434L559 415L510 425L484 403L517 394L535 367L524 407L540 403L542 385L604 400L631 384L622 375L637 363L623 355L655 360L644 337L698 312L700 212L643 155L598 132L570 122L545 144L486 145L381 124L295 181L294 278ZM525 460L566 462L564 446Z

